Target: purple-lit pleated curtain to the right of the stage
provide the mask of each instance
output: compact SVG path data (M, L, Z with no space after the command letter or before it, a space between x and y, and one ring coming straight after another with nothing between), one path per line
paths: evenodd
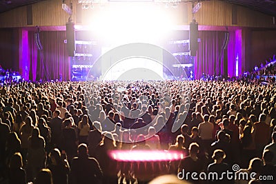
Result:
M224 50L226 32L199 31L199 48L195 61L195 76L200 79L202 74L224 74ZM226 52L226 51L225 51Z

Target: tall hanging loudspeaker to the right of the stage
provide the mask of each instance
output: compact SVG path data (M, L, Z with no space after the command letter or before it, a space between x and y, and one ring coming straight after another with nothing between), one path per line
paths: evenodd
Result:
M197 55L198 48L198 23L193 21L190 23L190 55L195 57Z

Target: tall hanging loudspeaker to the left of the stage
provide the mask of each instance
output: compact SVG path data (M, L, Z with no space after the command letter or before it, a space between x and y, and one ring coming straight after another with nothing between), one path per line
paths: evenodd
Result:
M67 39L67 50L69 57L75 56L75 27L74 23L66 23L66 39Z

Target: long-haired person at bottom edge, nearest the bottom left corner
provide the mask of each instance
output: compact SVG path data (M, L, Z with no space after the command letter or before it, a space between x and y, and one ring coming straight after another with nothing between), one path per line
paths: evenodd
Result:
M26 172L19 152L14 153L10 159L9 184L26 184Z

